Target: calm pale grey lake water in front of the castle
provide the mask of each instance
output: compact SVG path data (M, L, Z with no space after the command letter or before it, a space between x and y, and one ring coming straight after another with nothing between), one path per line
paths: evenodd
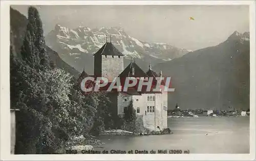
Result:
M249 153L249 117L168 118L171 135L104 136L95 150L189 150L189 153ZM208 133L208 135L206 135Z

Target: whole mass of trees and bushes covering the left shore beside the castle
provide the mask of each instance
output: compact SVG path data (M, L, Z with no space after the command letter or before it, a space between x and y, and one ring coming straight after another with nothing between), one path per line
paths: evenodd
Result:
M56 153L76 136L99 135L105 128L123 124L135 130L132 104L122 120L110 108L112 102L106 93L84 95L72 75L50 68L42 22L34 7L28 10L22 57L16 57L13 48L11 44L11 108L20 110L16 115L16 154Z

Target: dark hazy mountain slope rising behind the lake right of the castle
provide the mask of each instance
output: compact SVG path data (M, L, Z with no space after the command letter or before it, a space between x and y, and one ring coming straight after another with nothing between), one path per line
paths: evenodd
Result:
M154 70L172 76L175 92L168 94L168 108L240 110L249 108L249 33L234 32L224 42L159 63Z

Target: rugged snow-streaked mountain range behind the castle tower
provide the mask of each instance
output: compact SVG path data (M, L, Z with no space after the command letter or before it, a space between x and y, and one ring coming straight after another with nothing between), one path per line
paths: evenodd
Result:
M46 43L78 71L86 67L87 72L92 73L92 55L105 44L106 39L125 55L124 66L133 58L145 69L149 63L154 65L169 61L189 52L166 43L140 41L119 27L90 29L78 26L76 29L69 29L57 24L55 29L46 36Z

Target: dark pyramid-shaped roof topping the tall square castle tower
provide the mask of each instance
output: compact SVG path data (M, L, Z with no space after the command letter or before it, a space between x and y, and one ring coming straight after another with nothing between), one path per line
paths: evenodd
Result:
M106 42L93 56L95 55L124 56L111 42Z

